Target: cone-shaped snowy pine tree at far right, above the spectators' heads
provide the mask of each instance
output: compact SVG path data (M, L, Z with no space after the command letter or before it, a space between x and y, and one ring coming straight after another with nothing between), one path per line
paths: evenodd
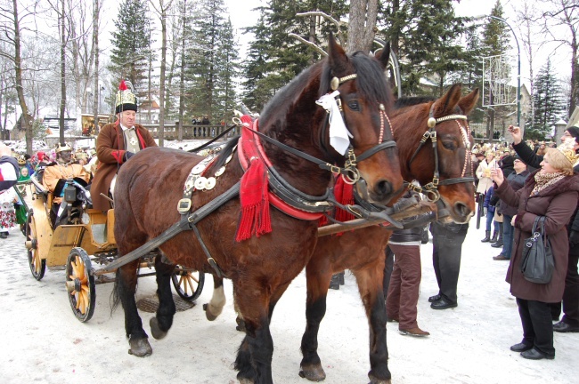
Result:
M550 134L553 124L565 116L565 96L553 74L550 59L539 70L534 80L534 124L525 136L530 139L544 140Z

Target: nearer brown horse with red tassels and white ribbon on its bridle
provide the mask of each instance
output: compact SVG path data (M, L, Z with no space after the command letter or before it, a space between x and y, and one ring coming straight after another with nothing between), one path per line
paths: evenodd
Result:
M348 160L359 160L348 162L355 165L349 174L364 180L369 201L391 203L404 185L392 133L383 118L393 101L382 72L387 57L388 52L380 60L361 52L347 55L330 36L328 58L307 68L265 107L259 131L277 143L264 141L263 151L249 158L249 170L254 160L261 159L269 164L270 179L274 173L279 175L285 190L300 199L326 196L331 176L326 165L331 165L332 171L343 171L339 167L347 165L347 158L330 147L327 113L315 101L337 89L341 115L352 135ZM281 148L280 142L310 156L309 160ZM240 161L228 163L230 155L240 152L233 144L204 172L216 177L216 185L193 193L193 212L215 204L216 198L232 190L243 176ZM311 158L322 159L322 166ZM147 148L122 166L115 189L114 232L119 255L134 251L179 221L175 208L183 197L183 185L201 160L183 151ZM175 303L169 281L175 265L212 272L209 262L216 264L214 268L232 280L234 299L246 322L247 334L235 361L238 379L271 383L273 340L269 323L273 308L306 266L317 241L317 220L298 220L272 209L271 232L238 242L240 212L240 198L234 196L197 223L196 235L183 232L159 245L155 266L159 309L151 319L151 332L153 337L162 338L173 322ZM115 302L120 301L125 310L130 353L147 356L152 349L135 304L137 264L135 260L118 268Z

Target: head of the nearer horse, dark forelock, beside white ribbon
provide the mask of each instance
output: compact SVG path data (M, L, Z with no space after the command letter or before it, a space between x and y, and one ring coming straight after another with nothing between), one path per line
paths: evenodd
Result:
M351 144L346 154L346 168L351 174L345 180L355 182L364 199L391 203L402 193L404 180L388 116L393 107L393 96L384 76L389 44L378 57L371 57L364 52L347 55L333 36L329 40L320 95L339 92L341 115Z

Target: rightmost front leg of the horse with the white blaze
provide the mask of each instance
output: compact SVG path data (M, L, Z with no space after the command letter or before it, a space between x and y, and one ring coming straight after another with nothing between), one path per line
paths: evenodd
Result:
M388 370L388 348L386 342L386 305L382 290L384 277L384 256L354 270L363 306L366 309L370 325L370 372L371 384L390 384L391 373Z

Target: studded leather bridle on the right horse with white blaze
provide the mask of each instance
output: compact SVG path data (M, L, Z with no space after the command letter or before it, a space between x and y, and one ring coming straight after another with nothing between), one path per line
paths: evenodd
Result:
M424 196L426 196L427 200L430 202L436 202L438 201L438 199L440 199L440 192L438 191L438 186L446 186L446 185L452 185L452 184L459 184L459 183L466 183L466 182L475 182L475 178L473 176L465 176L465 173L467 172L467 167L468 164L470 162L470 147L469 147L469 134L470 134L470 129L469 129L469 124L467 123L467 128L465 130L464 127L462 127L462 125L458 122L458 120L465 120L468 121L468 117L464 116L464 115L448 115L448 116L443 116L443 117L438 117L435 118L434 117L434 107L435 107L436 103L433 103L432 106L430 107L430 113L429 113L429 117L428 117L428 131L424 132L424 134L422 135L422 139L420 139L420 144L418 146L418 148L416 148L416 150L414 151L414 154L412 155L412 157L410 158L410 161L408 162L408 168L410 169L410 165L412 164L412 160L414 160L414 157L416 157L418 155L418 153L420 152L420 149L422 149L422 147L424 147L424 145L426 144L426 142L428 141L428 139L430 139L432 141L432 149L434 151L434 156L435 156L435 170L434 170L434 175L432 177L432 181L429 182L428 184L426 184L425 186L416 186L414 184L408 184L409 188L411 188L412 190L422 193L424 194ZM462 136L462 140L464 140L464 144L465 144L465 159L464 159L464 165L462 167L462 172L461 172L461 177L459 178L450 178L450 179L444 179L444 180L440 180L440 172L438 170L438 148L436 148L436 124L438 123L442 123L448 120L455 120L456 124L459 127L459 132L461 132L461 136ZM470 166L470 172L472 172L472 165Z

